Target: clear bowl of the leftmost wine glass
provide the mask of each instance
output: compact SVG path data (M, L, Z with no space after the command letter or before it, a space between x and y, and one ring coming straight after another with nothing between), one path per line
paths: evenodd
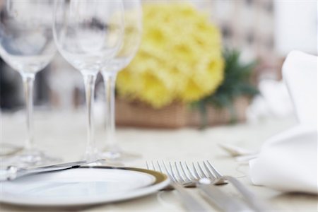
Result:
M52 1L8 0L1 8L0 54L13 69L35 74L55 54Z

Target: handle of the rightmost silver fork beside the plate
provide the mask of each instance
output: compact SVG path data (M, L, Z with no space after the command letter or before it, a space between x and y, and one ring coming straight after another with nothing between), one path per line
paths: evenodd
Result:
M235 179L235 177L224 176L223 178L228 179L228 182L230 182L237 189L237 191L239 191L242 196L245 197L249 206L251 206L255 211L271 211L271 208L269 208L268 204L258 199L252 192L249 191L249 189L247 189L247 187L245 187L244 184L242 184L242 182Z

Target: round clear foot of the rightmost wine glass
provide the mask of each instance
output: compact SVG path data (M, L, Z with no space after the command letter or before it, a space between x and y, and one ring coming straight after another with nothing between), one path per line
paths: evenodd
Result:
M108 162L112 161L131 161L142 158L140 154L130 153L123 151L120 148L105 148L105 150L100 153L100 158L105 158Z

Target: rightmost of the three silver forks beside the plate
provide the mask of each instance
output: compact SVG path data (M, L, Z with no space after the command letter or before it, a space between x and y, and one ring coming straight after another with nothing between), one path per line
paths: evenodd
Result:
M255 211L270 211L268 204L266 204L264 201L261 201L260 199L257 199L257 196L250 192L249 189L247 189L247 187L245 187L245 185L238 181L235 177L221 175L220 172L216 170L216 167L214 167L208 160L203 162L203 164L206 172L208 172L208 175L213 179L213 184L221 185L228 184L228 182L230 182L237 189L237 191L245 197L247 204L249 204L249 206Z

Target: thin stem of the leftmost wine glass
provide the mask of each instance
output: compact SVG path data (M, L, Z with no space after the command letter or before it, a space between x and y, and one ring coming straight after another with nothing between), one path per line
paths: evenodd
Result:
M23 76L23 87L25 92L25 105L26 105L26 122L28 139L25 141L25 149L30 150L33 148L34 133L33 133L33 85L34 74Z

